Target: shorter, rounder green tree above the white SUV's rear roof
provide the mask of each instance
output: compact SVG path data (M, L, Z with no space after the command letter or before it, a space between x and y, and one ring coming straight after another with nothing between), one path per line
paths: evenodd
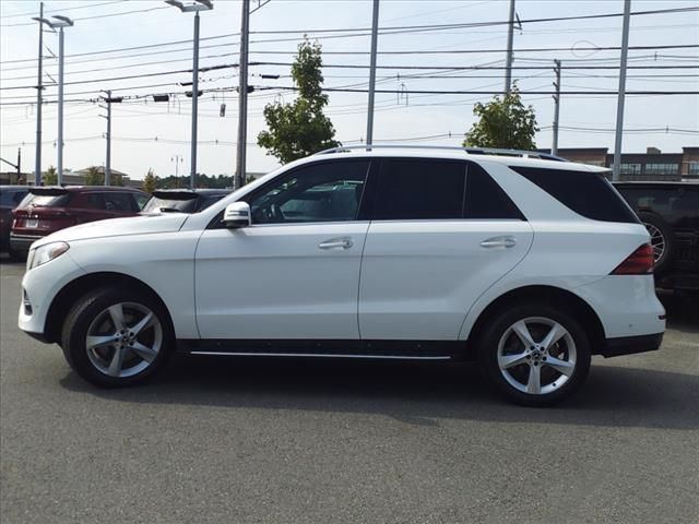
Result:
M505 96L495 96L487 104L473 106L478 117L463 145L466 147L505 147L534 150L534 134L538 131L532 106L524 107L517 85Z

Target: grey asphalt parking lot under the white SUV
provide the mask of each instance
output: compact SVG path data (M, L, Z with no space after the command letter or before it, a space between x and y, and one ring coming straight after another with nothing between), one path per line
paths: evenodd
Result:
M2 524L698 520L696 301L556 408L473 366L180 357L104 391L19 332L23 271L0 260Z

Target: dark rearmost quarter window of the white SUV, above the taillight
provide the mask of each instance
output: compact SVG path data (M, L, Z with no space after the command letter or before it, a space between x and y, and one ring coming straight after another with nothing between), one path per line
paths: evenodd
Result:
M510 166L568 209L593 221L638 223L612 184L599 172Z

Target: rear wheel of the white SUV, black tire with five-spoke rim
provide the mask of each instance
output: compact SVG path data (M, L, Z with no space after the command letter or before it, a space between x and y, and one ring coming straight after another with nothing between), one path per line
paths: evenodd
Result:
M525 323L534 345L526 347L517 335L514 326L519 322ZM555 325L566 334L543 348ZM477 344L485 377L505 397L524 406L550 406L562 401L582 385L590 370L590 341L584 330L568 312L552 306L531 302L500 310L489 319ZM538 392L533 380L536 377Z

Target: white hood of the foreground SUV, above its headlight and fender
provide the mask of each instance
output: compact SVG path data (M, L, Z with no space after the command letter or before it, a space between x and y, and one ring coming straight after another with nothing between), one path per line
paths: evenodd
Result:
M122 235L151 235L177 231L189 215L182 213L167 215L141 215L127 218L109 218L67 227L35 242L35 247L48 242L87 240L90 238L119 237Z

